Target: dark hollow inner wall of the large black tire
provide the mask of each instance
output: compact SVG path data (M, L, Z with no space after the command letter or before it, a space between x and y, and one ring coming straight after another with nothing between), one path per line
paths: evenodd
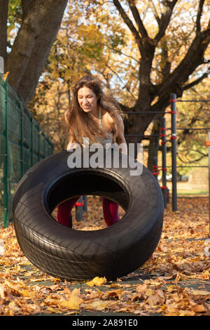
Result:
M112 171L97 170L75 170L62 173L52 180L43 194L44 206L50 216L58 204L81 195L107 197L127 212L131 194L127 182Z

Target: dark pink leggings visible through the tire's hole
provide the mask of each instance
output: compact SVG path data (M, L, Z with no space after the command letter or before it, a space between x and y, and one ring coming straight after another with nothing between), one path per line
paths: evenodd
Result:
M73 197L57 206L57 223L69 227L69 217L74 204L80 197ZM120 220L118 216L118 204L111 202L110 199L102 197L104 220L110 226Z

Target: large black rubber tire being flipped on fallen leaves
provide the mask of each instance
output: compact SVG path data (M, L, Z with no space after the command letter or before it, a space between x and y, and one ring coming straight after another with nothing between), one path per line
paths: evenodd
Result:
M25 256L38 269L68 281L114 279L136 270L160 240L162 191L151 171L69 169L69 152L39 161L22 177L13 198L15 233ZM57 204L79 195L112 199L126 213L102 230L73 230L52 218Z

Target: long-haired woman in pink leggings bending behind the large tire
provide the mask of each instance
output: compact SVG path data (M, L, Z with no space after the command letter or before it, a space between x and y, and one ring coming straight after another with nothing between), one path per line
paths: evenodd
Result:
M66 124L69 128L70 141L67 150L75 143L83 145L83 138L90 143L125 143L123 119L120 116L118 103L110 95L102 91L101 82L94 77L85 76L73 87L71 106L65 112ZM69 217L73 205L79 197L63 202L57 206L57 222L69 227ZM119 219L118 204L102 197L104 220L108 226Z

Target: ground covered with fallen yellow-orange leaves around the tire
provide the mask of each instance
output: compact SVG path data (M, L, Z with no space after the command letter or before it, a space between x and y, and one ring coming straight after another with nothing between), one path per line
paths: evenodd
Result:
M210 315L208 199L179 199L178 207L172 212L167 206L153 256L116 282L62 282L45 275L23 255L13 224L1 227L0 315ZM99 197L88 198L88 213L73 227L104 227Z

